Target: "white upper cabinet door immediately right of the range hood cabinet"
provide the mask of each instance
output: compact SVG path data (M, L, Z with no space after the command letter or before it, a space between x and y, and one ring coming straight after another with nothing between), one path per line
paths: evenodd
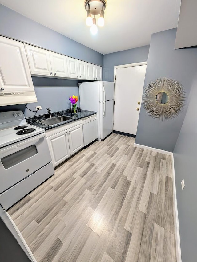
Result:
M25 44L26 54L33 75L51 76L49 51Z

